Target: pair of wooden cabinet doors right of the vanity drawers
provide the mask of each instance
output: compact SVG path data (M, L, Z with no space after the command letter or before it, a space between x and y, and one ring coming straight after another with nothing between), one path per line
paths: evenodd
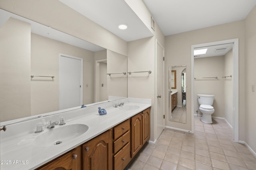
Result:
M133 116L131 121L131 156L133 158L150 138L150 107Z

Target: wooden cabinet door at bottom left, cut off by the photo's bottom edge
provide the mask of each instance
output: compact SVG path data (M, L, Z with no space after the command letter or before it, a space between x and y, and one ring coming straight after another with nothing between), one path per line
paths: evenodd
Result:
M36 170L77 170L80 167L77 150L74 149Z

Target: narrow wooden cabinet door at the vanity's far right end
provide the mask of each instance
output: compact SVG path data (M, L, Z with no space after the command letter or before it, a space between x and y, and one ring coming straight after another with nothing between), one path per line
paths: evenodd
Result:
M150 138L150 107L142 111L142 145Z

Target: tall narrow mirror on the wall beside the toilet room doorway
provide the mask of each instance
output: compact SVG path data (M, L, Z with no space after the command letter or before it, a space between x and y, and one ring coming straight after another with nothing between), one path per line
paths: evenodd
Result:
M174 79L176 85L175 88ZM186 115L186 65L170 66L169 121L186 123Z

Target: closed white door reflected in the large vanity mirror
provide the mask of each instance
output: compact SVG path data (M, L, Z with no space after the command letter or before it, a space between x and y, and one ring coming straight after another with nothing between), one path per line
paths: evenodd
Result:
M60 109L82 105L82 61L60 55Z

